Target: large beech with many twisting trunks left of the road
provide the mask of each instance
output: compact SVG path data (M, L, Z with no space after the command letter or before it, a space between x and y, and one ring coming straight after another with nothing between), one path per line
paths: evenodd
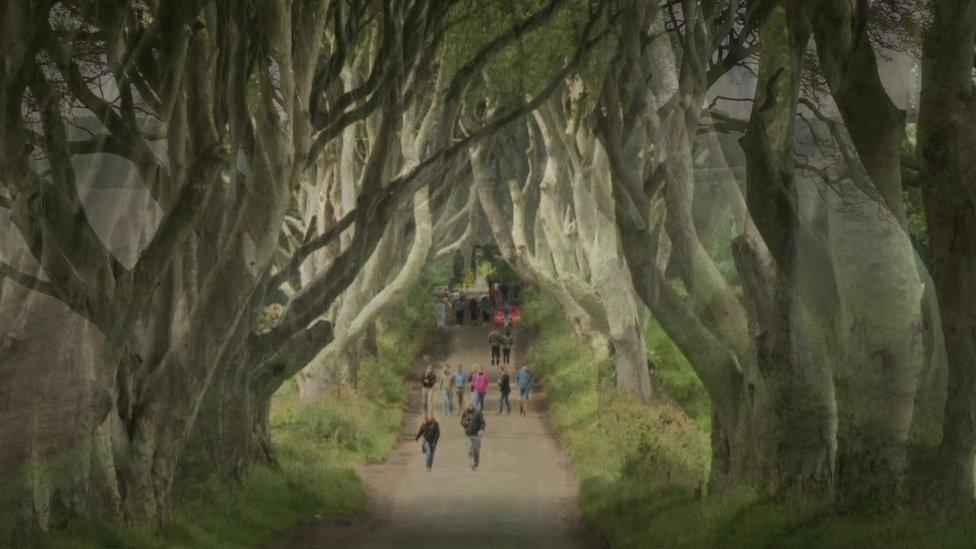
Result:
M270 397L333 340L325 315L391 232L389 221L412 200L418 252L405 278L381 293L395 298L430 253L428 195L451 158L551 93L454 136L480 67L563 2L542 4L477 49L442 95L423 86L459 9L452 2L190 2L121 12L8 4L14 32L0 133L9 197L0 205L43 276L9 265L5 273L65 303L100 339L86 465L67 480L50 471L31 482L25 501L64 500L69 513L151 529L165 521L188 443L200 442L209 463L239 479L253 459L273 461ZM598 40L592 28L571 63ZM358 79L343 78L356 71ZM78 111L101 125L91 138L69 135L66 121ZM320 158L362 120L374 134L347 189L352 206L310 219L283 257L296 189L317 183ZM398 151L397 139L410 134ZM163 211L131 268L87 219L72 163L80 154L125 158ZM328 262L306 271L280 316L262 325L279 288L327 246L335 250ZM367 306L351 333L379 310ZM30 505L25 523L46 527L51 509Z

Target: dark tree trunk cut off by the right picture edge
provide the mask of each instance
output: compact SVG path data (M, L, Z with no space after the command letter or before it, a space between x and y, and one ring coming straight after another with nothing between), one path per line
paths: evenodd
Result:
M930 497L973 505L976 455L976 94L972 83L976 2L932 3L922 55L918 150L932 278L949 363L942 441Z

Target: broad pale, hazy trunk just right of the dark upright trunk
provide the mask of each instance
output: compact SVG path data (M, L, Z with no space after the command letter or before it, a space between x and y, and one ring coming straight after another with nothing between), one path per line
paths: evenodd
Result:
M840 296L837 496L892 503L904 487L925 360L922 286L911 242L892 217L878 219L869 201L829 215Z

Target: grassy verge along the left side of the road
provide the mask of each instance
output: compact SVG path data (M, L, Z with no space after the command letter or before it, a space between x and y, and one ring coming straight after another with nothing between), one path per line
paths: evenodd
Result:
M403 379L422 351L425 338L418 334L427 333L428 317L427 298L418 287L378 336L376 353L360 362L356 390L306 405L294 381L282 387L271 414L277 469L252 467L244 486L219 476L181 478L170 521L154 537L79 521L35 545L253 547L301 524L362 513L366 492L354 467L382 461L393 450L409 396Z

